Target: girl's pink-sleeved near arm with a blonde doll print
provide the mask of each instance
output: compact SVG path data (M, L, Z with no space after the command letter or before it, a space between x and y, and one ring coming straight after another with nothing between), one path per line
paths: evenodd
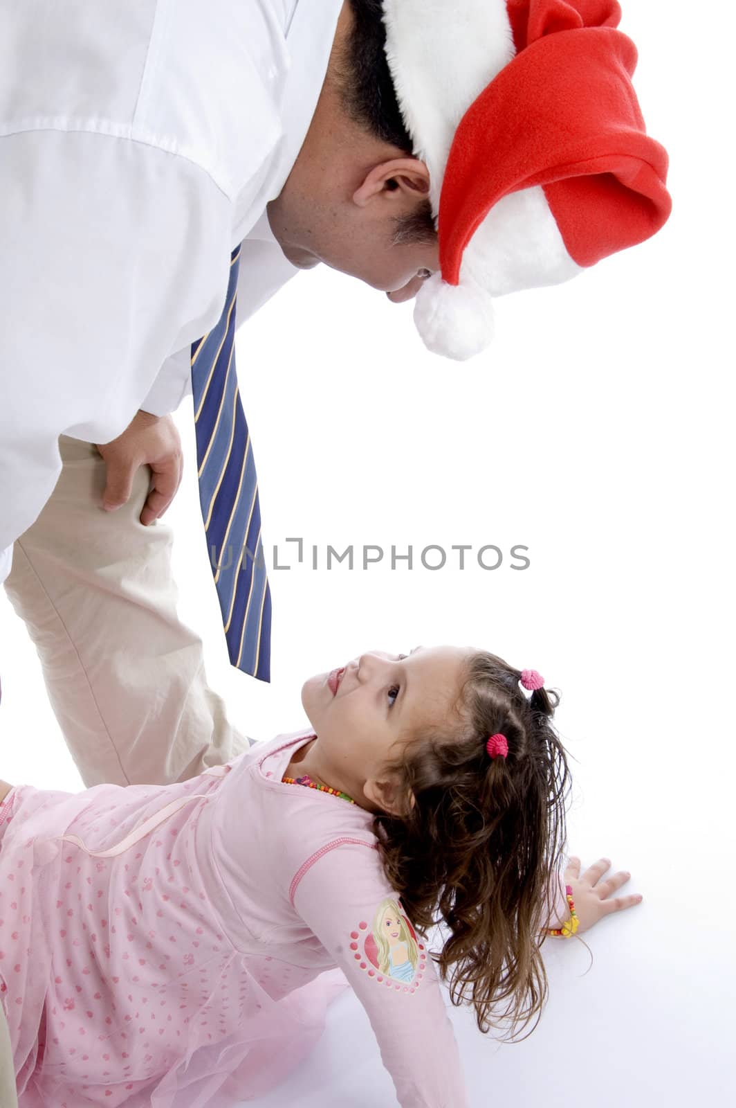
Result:
M466 1108L457 1044L429 951L403 915L377 852L343 840L313 859L291 882L292 903L365 1008L400 1105Z

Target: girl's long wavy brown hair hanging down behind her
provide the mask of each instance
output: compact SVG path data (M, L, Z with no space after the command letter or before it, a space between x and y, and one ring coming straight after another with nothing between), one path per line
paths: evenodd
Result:
M520 677L501 658L474 654L450 722L412 736L393 763L405 811L379 812L373 824L414 926L449 930L434 957L453 1004L473 1004L481 1032L510 1020L510 1037L536 1016L533 1030L547 999L541 929L570 786L551 725L559 698L546 689L528 697ZM490 759L486 741L499 731L508 757Z

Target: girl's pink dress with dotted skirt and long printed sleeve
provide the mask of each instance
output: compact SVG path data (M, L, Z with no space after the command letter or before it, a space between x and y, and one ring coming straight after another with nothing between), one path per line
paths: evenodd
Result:
M443 994L370 813L281 781L311 737L166 787L12 790L0 999L21 1108L230 1108L305 1057L348 984L400 1104L464 1108Z

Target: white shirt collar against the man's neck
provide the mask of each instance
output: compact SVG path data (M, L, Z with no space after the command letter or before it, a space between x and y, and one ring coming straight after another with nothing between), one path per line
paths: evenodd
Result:
M289 72L281 101L283 136L272 178L274 199L291 173L320 99L343 0L296 0L287 29Z

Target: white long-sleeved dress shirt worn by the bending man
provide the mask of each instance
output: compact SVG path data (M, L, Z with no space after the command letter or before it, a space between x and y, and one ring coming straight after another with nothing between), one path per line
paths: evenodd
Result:
M266 205L341 7L0 0L0 581L60 434L108 442L178 407L238 243L236 326L297 271Z

